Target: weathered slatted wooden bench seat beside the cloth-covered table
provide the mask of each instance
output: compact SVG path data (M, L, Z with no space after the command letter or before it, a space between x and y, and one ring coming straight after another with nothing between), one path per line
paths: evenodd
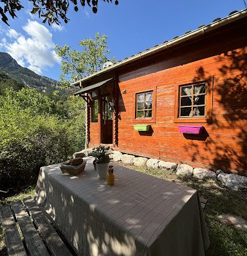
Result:
M0 216L8 255L75 255L31 197L0 206Z

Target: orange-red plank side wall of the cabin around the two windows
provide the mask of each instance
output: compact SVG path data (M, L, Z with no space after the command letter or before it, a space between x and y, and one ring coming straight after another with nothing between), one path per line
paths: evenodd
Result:
M118 70L118 150L247 175L246 27L246 20L231 24ZM190 123L174 123L176 86L208 79L213 81L212 123L196 123L205 127L202 135L183 135L178 125ZM156 120L145 122L151 132L140 133L133 128L134 94L153 88Z

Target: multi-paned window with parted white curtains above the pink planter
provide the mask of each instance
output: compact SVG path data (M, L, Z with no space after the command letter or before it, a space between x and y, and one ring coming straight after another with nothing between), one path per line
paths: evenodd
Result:
M206 83L179 87L179 117L205 117Z

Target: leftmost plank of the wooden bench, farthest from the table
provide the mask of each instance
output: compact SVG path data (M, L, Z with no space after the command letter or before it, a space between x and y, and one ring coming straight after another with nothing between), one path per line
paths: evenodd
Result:
M0 206L0 216L5 234L6 247L9 256L26 256L26 250L21 241L10 206Z

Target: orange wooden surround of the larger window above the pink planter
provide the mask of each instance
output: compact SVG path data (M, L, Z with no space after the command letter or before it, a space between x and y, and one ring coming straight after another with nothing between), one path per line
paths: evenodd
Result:
M180 103L181 103L181 87L191 86L196 84L206 84L205 90L205 115L201 117L179 117L180 113ZM186 84L176 84L175 90L175 104L174 104L174 123L212 123L212 90L213 81L212 79L207 79L203 81L197 81L193 83ZM193 106L193 104L191 105Z

